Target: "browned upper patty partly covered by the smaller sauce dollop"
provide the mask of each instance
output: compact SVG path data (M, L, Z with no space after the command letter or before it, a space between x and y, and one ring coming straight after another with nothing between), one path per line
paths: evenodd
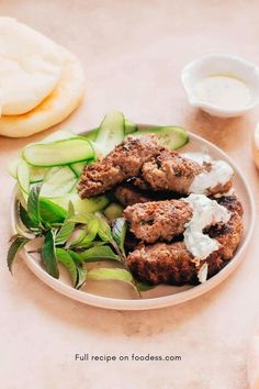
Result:
M211 167L211 163L201 165L176 152L164 149L143 165L140 179L135 184L145 188L146 182L146 188L149 186L153 190L170 190L188 194L195 176L210 171ZM230 188L232 181L229 180L209 188L206 194L225 193Z

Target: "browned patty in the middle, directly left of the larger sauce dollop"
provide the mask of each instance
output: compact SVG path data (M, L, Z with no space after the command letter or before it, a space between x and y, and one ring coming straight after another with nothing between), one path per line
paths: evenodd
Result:
M150 201L127 207L123 215L137 238L147 243L170 242L184 232L192 208L183 200Z

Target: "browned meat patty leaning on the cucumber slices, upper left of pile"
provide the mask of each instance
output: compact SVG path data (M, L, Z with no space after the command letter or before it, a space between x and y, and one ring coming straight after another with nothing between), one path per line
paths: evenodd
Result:
M86 165L78 186L80 197L104 193L117 184L138 176L143 164L158 155L164 147L156 135L127 137L105 158Z

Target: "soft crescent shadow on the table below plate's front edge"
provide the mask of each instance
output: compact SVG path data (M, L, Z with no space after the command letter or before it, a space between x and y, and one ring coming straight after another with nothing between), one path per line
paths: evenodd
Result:
M223 294L227 282L192 301L149 311L114 311L90 307L61 296L41 282L23 263L16 269L16 290L20 299L30 301L56 321L88 333L148 337L162 332L173 332L196 315L201 316Z

